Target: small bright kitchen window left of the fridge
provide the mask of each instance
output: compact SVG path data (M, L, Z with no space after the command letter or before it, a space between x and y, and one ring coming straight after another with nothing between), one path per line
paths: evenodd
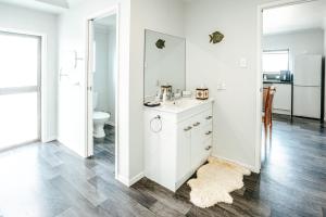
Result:
M289 71L289 50L264 51L263 72L279 73Z

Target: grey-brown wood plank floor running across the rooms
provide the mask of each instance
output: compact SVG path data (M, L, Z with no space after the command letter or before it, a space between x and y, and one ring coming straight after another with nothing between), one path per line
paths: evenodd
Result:
M261 175L244 178L234 204L202 209L184 184L175 194L142 179L114 180L114 131L83 159L58 142L0 154L0 216L326 216L326 133L317 122L278 118Z

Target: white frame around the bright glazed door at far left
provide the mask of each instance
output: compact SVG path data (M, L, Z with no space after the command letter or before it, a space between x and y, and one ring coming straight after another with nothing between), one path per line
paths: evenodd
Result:
M4 150L9 150L9 149L13 149L16 146L21 146L21 145L26 145L26 144L30 144L33 142L36 141L41 141L41 142L48 142L51 141L52 138L48 138L49 135L47 135L46 132L46 126L47 126L47 117L48 117L48 113L46 112L46 99L45 99L45 92L46 92L46 87L42 85L46 82L47 79L47 34L43 33L37 33L37 31L28 31L28 30L22 30L18 28L4 28L4 27L0 27L0 31L4 33L4 34L9 34L9 35L18 35L18 36L26 36L26 37L36 37L39 38L39 62L38 62L38 72L37 72L37 125L38 125L38 138L36 140L33 141L25 141L22 142L20 144L14 144L11 145L9 148L5 148ZM15 92L16 88L12 88L12 92ZM29 90L29 88L27 88L26 90Z

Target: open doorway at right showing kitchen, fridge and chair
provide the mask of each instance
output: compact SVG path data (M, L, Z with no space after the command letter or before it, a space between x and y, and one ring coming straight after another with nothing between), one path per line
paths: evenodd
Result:
M323 0L313 0L271 3L259 11L262 165L293 157L298 148L312 149L314 141L305 135L324 132L325 10ZM290 138L302 141L292 144Z

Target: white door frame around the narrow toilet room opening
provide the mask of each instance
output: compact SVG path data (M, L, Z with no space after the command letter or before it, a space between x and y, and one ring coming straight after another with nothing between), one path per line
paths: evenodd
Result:
M115 75L115 123L114 123L114 128L115 128L115 139L114 139L114 145L115 145L115 178L117 179L117 171L118 171L118 80L120 80L120 4L115 4L111 8L108 8L103 11L100 11L98 13L95 13L90 16L87 17L86 20L86 138L85 138L85 144L86 144L86 156L90 157L93 155L93 140L92 140L92 68L93 68L93 33L91 29L93 26L93 21L97 18L101 17L106 17L115 15L116 16L116 23L115 23L115 38L116 38L116 44L115 44L115 50L116 50L116 59L115 59L115 65L116 65L116 75Z

